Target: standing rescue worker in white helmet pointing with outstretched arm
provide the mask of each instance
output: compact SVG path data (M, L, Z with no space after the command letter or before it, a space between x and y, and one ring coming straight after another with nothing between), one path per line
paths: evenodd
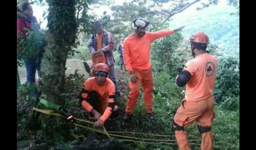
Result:
M149 22L143 19L133 19L133 33L123 41L123 60L126 70L129 73L130 93L127 97L126 113L124 120L131 117L130 110L133 110L137 103L140 93L140 82L144 92L144 104L149 119L152 116L152 99L153 99L153 75L152 65L150 63L150 44L158 38L171 35L180 31L183 27L175 30L161 30L158 32L146 32L149 30Z

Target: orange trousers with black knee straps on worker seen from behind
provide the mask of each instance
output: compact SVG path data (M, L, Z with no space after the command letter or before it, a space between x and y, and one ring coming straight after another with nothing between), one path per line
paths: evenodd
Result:
M210 127L214 120L214 99L209 97L200 101L187 101L183 99L181 106L178 108L174 122L181 127L188 127L194 121L202 127ZM173 125L175 128L176 126ZM175 131L175 137L180 150L189 150L186 131ZM201 134L201 150L212 150L213 135L212 131Z

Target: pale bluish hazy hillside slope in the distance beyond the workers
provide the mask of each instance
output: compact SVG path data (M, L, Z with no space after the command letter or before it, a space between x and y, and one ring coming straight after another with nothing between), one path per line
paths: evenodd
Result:
M186 38L203 31L210 38L210 44L218 45L226 56L239 57L239 16L230 16L232 6L211 6L191 13L184 12L173 16L170 26L187 26L183 30Z

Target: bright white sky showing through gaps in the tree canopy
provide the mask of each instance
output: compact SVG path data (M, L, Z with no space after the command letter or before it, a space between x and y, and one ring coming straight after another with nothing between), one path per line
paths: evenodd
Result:
M115 3L113 5L122 5L123 2L130 2L132 0L115 0ZM201 0L201 2L207 2L208 0ZM226 0L219 0L219 4L218 4L218 8L221 9L221 7L224 7L226 6ZM196 7L198 5L200 5L201 2L197 2L196 4L193 4L192 6L190 6L189 8L187 8L186 10L184 10L183 12L181 13L178 13L176 15L174 15L173 17L175 18L180 18L182 19L182 16L183 15L186 15L187 13L195 13L197 10L196 10ZM111 11L110 9L111 6L101 6L99 8L94 8L93 9L93 12L95 12L98 16L102 15L104 11L107 12L107 14L112 14L113 11ZM170 4L165 4L164 5L164 8L166 9L169 9L170 7ZM41 6L36 6L35 4L33 5L33 10L34 10L34 16L36 16L36 19L39 21L41 20L42 21L42 24L41 24L41 28L42 29L45 29L46 28L46 25L47 25L47 19L43 20L43 13L45 10L47 10L47 6L45 7L41 7ZM178 20L177 20L178 21Z

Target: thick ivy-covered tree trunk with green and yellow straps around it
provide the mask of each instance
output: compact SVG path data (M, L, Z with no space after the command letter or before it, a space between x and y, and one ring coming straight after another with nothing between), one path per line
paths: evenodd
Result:
M64 106L64 75L67 55L76 38L75 0L49 0L48 30L46 46L40 64L42 94L46 100ZM44 109L44 108L43 108ZM46 127L53 140L63 137L64 125L61 117L42 114L42 126Z

